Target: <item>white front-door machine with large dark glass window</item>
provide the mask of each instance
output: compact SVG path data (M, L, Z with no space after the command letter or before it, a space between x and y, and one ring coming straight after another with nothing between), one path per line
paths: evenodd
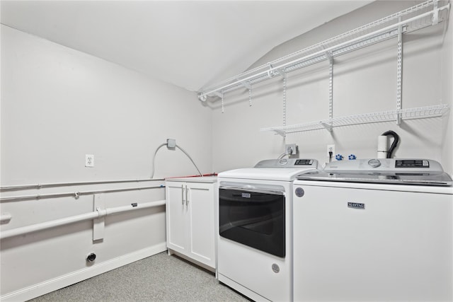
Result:
M255 301L292 300L292 182L313 159L219 173L219 281Z

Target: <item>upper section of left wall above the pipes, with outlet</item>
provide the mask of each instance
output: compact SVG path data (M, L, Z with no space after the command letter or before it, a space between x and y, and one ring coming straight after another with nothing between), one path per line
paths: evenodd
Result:
M210 172L210 110L194 105L195 93L1 30L2 185L149 178L168 137ZM86 153L94 168L84 167ZM180 151L159 151L155 176L196 172Z

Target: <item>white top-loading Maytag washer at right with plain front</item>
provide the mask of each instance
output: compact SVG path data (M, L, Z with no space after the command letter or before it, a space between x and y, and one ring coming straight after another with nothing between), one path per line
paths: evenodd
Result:
M338 161L294 180L294 301L453 301L452 178Z

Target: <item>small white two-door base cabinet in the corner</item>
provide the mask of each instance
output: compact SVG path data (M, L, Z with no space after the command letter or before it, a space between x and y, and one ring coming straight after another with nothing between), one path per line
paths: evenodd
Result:
M166 181L167 248L215 269L217 178Z

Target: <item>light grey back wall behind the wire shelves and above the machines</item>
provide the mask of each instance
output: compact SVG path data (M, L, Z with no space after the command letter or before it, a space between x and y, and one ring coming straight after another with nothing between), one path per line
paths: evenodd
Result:
M415 1L375 1L290 40L265 55L253 66L314 45L360 25L413 6ZM403 36L402 108L452 104L451 32L444 40L447 22ZM447 42L447 41L450 42ZM445 44L450 43L450 46ZM396 109L396 39L336 57L333 64L333 117ZM445 61L450 62L445 65ZM286 124L304 124L328 118L328 62L287 74ZM299 157L328 160L326 145L335 144L345 158L376 156L377 137L393 130L401 137L396 158L431 158L452 173L452 135L449 115L420 120L359 124L287 134L286 139L263 127L282 126L282 78L248 91L225 95L224 113L220 102L213 103L214 170L250 167L265 158L277 158L286 144L299 145ZM447 121L450 121L447 126ZM449 128L448 128L449 127ZM449 130L447 130L449 129ZM447 132L447 133L446 133Z

